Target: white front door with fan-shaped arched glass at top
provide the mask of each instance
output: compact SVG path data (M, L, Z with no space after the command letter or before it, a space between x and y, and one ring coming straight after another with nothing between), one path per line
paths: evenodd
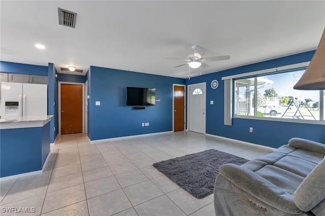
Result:
M205 133L206 115L206 85L205 83L188 86L189 98L189 130L198 133Z

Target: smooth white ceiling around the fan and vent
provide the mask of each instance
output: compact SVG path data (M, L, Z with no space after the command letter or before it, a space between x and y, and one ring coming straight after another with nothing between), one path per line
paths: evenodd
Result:
M36 65L90 65L188 77L198 44L207 62L191 76L315 50L325 1L1 1L1 60ZM77 13L75 28L58 24L57 8ZM45 50L35 48L40 43ZM78 73L74 73L78 74ZM80 74L80 73L79 73Z

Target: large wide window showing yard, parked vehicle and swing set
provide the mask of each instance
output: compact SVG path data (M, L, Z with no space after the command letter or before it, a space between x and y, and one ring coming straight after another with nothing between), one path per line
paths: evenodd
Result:
M235 80L235 115L320 120L320 91L294 90L304 71Z

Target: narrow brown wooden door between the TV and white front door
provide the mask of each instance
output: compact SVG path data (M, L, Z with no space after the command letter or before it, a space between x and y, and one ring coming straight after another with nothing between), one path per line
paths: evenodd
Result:
M174 86L174 131L185 129L185 86Z

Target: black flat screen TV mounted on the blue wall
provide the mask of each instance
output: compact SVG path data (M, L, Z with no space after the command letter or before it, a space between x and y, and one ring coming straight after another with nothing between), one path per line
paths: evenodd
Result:
M127 106L146 106L156 104L156 89L126 87Z

